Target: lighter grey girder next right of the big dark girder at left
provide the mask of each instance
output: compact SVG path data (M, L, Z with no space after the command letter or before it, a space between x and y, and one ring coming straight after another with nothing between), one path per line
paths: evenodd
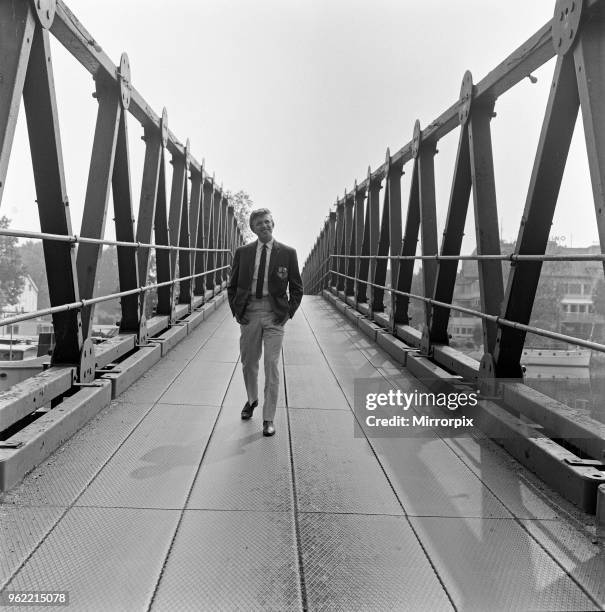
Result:
M113 162L120 125L119 91L114 83L97 81L96 97L99 102L97 124L84 200L82 229L86 238L103 238L107 219L107 203L113 175ZM80 297L90 299L94 295L97 270L101 261L99 244L82 243L78 246L77 270ZM88 338L92 331L94 305L82 308L82 333Z

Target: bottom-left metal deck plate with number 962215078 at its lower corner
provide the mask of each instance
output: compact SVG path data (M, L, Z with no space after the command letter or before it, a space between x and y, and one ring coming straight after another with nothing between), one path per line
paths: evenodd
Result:
M164 510L72 508L7 588L69 591L74 610L146 610L178 516Z

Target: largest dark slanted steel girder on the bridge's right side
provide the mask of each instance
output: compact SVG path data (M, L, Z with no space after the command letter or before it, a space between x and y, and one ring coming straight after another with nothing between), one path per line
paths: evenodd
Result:
M546 251L579 104L573 56L559 56L515 254L543 255ZM504 299L504 318L529 323L541 268L540 261L518 261L511 266ZM493 374L507 378L522 376L520 359L524 341L524 331L500 327L494 350Z

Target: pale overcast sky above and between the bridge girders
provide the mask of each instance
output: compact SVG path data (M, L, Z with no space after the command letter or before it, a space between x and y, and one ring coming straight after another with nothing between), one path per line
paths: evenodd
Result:
M301 263L330 207L458 99L464 71L475 82L552 16L554 1L485 0L68 0L135 87L215 172L226 189L269 207L275 237ZM79 233L96 102L93 81L53 45L72 227ZM501 233L515 239L554 62L496 104L492 121ZM1 213L39 229L23 111ZM129 118L132 191L138 208L144 143ZM439 231L447 210L458 130L436 157ZM170 166L168 166L170 169ZM404 210L409 170L403 179ZM404 216L405 218L405 216ZM106 236L113 237L113 211ZM464 250L474 247L469 215ZM581 123L568 161L553 236L597 240Z

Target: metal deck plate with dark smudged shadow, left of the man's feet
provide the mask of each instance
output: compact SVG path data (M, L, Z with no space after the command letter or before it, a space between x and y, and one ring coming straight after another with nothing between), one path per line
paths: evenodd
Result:
M213 406L157 404L77 505L182 508L217 413Z

